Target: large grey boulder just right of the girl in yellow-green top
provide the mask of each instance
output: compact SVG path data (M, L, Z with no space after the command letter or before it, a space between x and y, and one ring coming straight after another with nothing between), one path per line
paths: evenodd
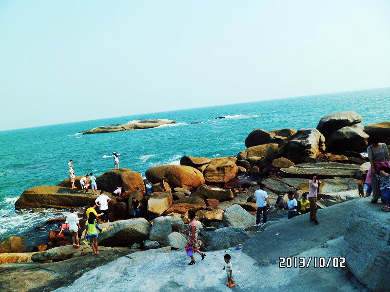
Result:
M131 247L149 238L150 224L144 218L118 220L99 225L106 231L99 234L98 244L109 247Z

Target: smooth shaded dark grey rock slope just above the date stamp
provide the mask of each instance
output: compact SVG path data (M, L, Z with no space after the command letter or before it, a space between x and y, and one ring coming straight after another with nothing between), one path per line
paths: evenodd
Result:
M356 200L359 199L318 210L318 225L309 221L309 214L274 223L264 232L256 233L244 242L242 249L258 263L275 263L280 256L292 256L318 247L328 240L342 237L345 234L348 213L353 210ZM277 242L278 247L284 248L260 242Z

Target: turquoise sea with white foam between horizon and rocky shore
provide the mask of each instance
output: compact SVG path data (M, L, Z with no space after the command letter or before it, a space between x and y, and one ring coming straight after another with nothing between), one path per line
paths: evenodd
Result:
M76 176L93 172L97 177L113 169L112 153L116 151L120 167L137 171L145 178L147 169L179 165L184 155L236 156L246 149L245 139L255 128L316 128L321 117L346 110L359 113L365 126L389 120L389 105L390 88L384 88L0 131L0 241L20 236L28 250L46 243L48 230L55 225L46 230L35 226L67 211L15 211L14 203L25 189L56 185L69 178L67 163L71 159ZM98 126L147 118L170 119L177 124L81 134ZM200 123L192 124L195 122Z

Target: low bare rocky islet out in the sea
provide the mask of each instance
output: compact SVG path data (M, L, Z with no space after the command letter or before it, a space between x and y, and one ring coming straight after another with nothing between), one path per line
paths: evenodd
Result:
M133 120L126 124L114 124L108 126L100 126L88 131L85 131L83 135L86 134L97 134L97 133L110 133L110 132L119 132L135 129L149 129L156 128L165 124L175 124L175 121L167 119L145 119L145 120Z

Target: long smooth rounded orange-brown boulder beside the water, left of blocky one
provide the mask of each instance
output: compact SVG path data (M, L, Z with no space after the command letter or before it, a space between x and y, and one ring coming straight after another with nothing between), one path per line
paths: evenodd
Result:
M159 165L149 168L145 173L146 179L151 183L158 183L164 176L172 188L181 187L194 190L205 183L203 174L191 166L186 165Z

